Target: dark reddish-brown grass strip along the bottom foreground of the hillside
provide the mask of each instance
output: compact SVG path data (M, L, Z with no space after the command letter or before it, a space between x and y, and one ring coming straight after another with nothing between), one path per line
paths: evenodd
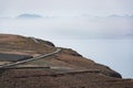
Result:
M8 78L7 78L8 76ZM52 69L7 70L0 78L6 88L132 88L133 81L96 73L57 74ZM3 82L4 81L4 82Z

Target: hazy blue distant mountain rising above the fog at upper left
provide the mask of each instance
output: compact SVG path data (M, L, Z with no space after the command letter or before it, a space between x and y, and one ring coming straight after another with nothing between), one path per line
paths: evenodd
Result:
M20 14L17 16L17 19L41 19L43 18L40 14L29 14L29 13L24 13L24 14Z

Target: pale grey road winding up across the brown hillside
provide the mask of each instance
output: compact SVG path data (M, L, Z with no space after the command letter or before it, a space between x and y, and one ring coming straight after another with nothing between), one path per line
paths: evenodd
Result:
M35 38L31 38L31 40L33 40L35 43L39 43ZM19 64L22 64L22 63L40 59L40 58L43 58L43 57L48 57L48 56L54 55L54 54L57 54L59 52L61 52L61 48L57 47L57 50L54 52L52 52L52 53L48 53L48 54L43 54L43 55L40 55L40 56L35 56L33 58L29 58L29 59L24 59L24 61L20 61L20 62L2 65L2 66L0 66L0 68L10 67L10 66L19 65Z

